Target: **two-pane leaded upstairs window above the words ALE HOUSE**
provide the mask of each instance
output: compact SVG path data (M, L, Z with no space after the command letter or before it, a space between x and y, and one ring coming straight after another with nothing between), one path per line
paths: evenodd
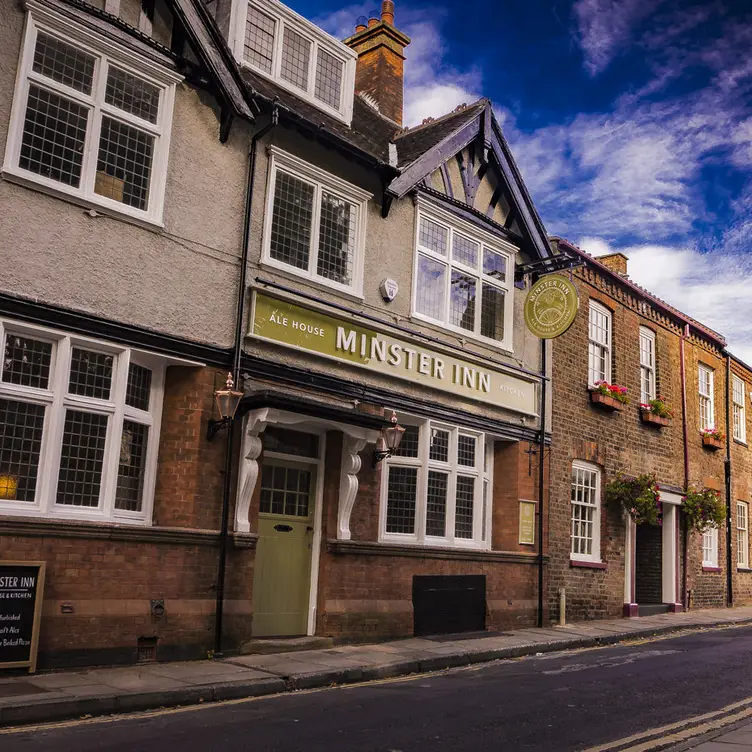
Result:
M369 198L359 188L272 149L263 261L360 295Z

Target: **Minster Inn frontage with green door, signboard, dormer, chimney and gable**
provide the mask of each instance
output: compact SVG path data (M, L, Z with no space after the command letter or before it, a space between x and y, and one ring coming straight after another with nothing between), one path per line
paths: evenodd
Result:
M344 43L271 0L211 7L278 119L253 174L236 421L246 626L535 623L540 342L516 272L551 250L490 102L404 128L390 2ZM404 438L375 456L392 411Z

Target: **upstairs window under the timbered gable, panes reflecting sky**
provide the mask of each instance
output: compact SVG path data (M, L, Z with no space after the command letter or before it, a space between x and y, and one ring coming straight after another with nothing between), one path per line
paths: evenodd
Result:
M510 350L513 249L423 209L416 246L416 317Z

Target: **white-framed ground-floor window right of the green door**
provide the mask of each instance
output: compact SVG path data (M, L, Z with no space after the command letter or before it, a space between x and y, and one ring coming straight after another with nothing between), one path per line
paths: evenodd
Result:
M487 547L491 446L455 426L407 426L383 463L381 539Z

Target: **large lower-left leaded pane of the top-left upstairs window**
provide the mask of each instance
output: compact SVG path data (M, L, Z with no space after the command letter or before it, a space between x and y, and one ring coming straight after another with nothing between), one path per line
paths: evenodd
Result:
M77 188L88 116L86 107L30 85L19 167Z

